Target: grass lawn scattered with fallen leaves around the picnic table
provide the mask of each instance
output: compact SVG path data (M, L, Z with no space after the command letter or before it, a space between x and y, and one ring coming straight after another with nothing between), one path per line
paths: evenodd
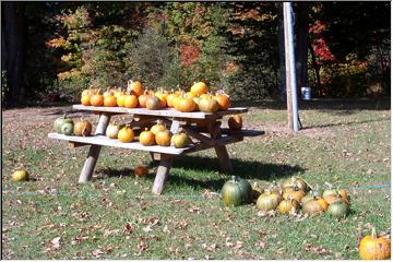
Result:
M243 105L245 128L265 134L228 146L234 174L345 188L347 218L224 207L217 193L229 176L212 150L175 160L160 196L151 193L156 164L145 152L104 147L92 181L78 184L88 148L47 139L69 107L12 109L2 114L2 259L359 259L361 231L390 234L390 100L301 103L296 135L279 103ZM140 163L147 177L134 177ZM20 165L31 181L10 180Z

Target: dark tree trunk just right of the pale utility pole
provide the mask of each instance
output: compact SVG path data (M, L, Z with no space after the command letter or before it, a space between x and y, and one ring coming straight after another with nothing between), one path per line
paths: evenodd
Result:
M298 2L297 4L296 83L298 87L297 93L300 95L301 86L307 86L309 3Z

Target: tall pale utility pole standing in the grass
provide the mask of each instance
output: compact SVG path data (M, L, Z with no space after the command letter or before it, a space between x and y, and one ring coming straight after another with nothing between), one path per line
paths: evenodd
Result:
M296 66L294 48L294 20L291 2L283 3L284 11L284 38L285 38L285 69L288 127L294 132L299 131L299 115L296 87Z

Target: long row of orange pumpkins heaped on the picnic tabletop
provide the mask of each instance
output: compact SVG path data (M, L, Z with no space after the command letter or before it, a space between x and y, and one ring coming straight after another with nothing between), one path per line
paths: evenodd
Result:
M147 108L157 110L175 108L181 112L203 111L215 112L227 110L230 99L224 91L209 93L206 83L194 82L189 92L144 90L140 81L129 81L127 92L121 90L107 90L104 94L97 88L84 90L81 103L84 106Z

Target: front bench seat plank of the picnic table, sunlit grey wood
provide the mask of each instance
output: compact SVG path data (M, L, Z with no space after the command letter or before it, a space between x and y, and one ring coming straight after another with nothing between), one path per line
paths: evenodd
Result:
M175 146L159 146L159 145L151 145L145 146L139 143L138 141L133 141L131 143L122 143L118 140L109 139L106 135L93 135L93 136L71 136L71 135L63 135L58 133L49 133L49 139L57 139L57 140L66 140L71 142L80 142L85 144L94 144L94 145L106 145L106 146L115 146L120 148L127 150L140 150L140 151L148 151L148 152L156 152L156 153L164 153L170 155L180 155L186 148L176 148ZM191 146L190 146L191 147Z

